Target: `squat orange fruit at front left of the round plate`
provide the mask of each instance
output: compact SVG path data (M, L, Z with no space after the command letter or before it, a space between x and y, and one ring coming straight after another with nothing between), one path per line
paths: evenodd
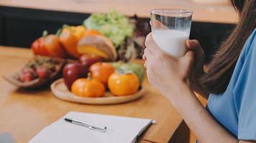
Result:
M102 97L105 87L97 79L76 79L72 84L71 92L78 97Z

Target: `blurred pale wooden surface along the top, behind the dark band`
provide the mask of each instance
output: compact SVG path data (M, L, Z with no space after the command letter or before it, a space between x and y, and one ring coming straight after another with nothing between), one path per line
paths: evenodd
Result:
M200 4L192 0L1 0L0 6L14 6L79 13L104 12L114 8L127 16L150 17L150 9L191 9L193 21L235 24L238 16L232 6Z

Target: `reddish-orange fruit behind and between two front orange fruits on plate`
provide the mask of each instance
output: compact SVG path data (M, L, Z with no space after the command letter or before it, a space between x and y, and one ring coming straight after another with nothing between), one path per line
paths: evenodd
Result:
M98 62L90 67L91 77L98 79L104 85L108 84L109 76L114 73L114 70L114 66L104 62Z

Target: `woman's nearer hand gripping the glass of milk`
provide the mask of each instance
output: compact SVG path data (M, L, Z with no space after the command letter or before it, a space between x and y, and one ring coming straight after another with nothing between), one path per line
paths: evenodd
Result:
M192 73L194 54L188 50L180 58L169 56L160 49L152 39L151 33L147 35L143 59L147 68L149 82L163 92L172 94L173 90L181 86L189 88L189 79Z

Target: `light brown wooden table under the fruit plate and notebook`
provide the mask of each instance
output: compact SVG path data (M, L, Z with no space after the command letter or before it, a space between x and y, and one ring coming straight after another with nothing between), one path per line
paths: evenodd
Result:
M29 49L0 46L0 75L12 74L32 57ZM113 114L157 120L141 142L168 142L181 117L167 98L145 81L147 93L142 99L126 104L88 105L64 102L49 89L25 91L0 77L0 133L10 132L16 142L28 142L37 132L70 111Z

